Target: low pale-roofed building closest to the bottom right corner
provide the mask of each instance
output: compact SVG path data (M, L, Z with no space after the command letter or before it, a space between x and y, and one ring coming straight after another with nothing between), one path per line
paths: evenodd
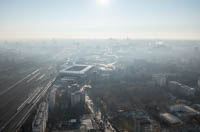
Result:
M162 113L160 114L160 118L163 122L167 123L170 126L182 124L182 121L179 118L170 113Z

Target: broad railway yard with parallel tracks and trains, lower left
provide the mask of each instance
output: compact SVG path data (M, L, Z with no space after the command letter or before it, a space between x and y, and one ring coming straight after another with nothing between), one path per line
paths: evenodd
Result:
M15 80L0 79L0 132L13 131L23 124L55 75L53 65L43 64L20 70L13 74Z

